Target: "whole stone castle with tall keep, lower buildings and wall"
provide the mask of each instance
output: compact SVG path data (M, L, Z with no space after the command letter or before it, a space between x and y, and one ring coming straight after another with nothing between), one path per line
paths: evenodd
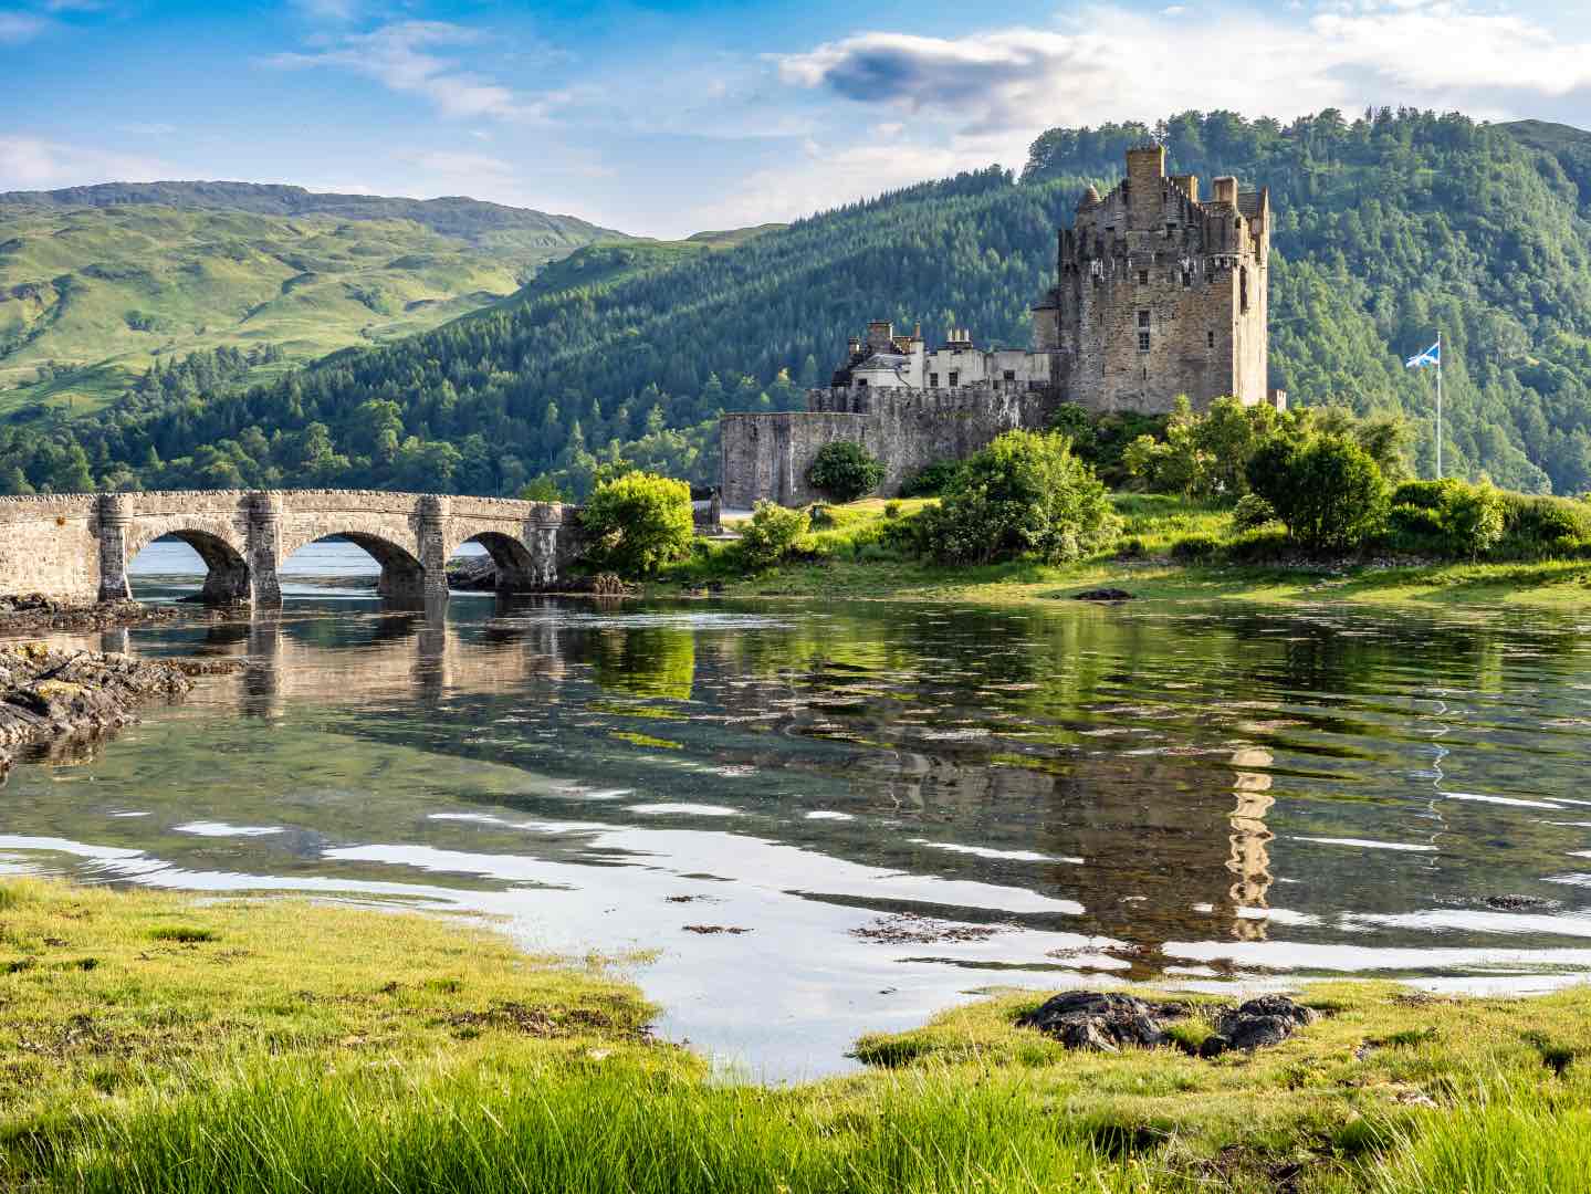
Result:
M929 350L921 329L875 321L850 343L807 410L725 415L725 507L818 499L807 469L837 440L885 464L897 493L926 464L961 459L1002 431L1045 428L1060 405L1163 413L1235 396L1284 404L1266 390L1270 191L1195 175L1166 176L1161 146L1130 149L1126 178L1101 199L1088 188L1063 229L1056 285L1033 308L1033 348L978 348L951 331Z

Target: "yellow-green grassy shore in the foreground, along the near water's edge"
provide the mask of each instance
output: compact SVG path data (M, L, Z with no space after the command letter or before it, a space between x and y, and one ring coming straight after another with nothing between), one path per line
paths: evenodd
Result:
M1319 987L1214 1062L1068 1054L1009 995L764 1089L651 1043L598 968L442 919L10 881L0 933L11 1188L1489 1194L1591 1159L1586 990Z

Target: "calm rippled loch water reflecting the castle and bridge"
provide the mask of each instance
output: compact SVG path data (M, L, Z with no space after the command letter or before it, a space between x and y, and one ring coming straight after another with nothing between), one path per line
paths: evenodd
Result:
M145 596L178 591L150 576L181 569L165 550ZM350 545L296 571L275 618L78 639L245 666L16 768L0 863L492 914L628 956L665 1035L768 1078L1002 986L1591 973L1591 615L455 596L428 618L315 583L368 571ZM913 940L867 935L905 913Z

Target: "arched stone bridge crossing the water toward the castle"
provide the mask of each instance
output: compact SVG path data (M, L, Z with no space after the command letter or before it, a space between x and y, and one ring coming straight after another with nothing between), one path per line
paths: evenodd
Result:
M344 536L382 566L380 593L422 604L447 596L447 561L480 544L504 591L555 585L579 550L578 507L506 498L364 490L100 493L0 498L0 596L76 601L129 596L127 564L156 539L193 547L216 604L280 606L282 564Z

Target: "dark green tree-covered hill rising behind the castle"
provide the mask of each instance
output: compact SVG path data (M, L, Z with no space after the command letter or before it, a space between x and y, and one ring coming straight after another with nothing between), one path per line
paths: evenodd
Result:
M506 493L544 471L578 485L613 450L711 479L719 410L797 405L869 318L1025 343L1055 227L1155 132L1179 173L1270 184L1271 380L1293 401L1408 413L1429 471L1432 378L1402 359L1441 329L1449 467L1591 488L1591 188L1577 170L1591 137L1330 111L1286 127L1214 113L1058 129L1021 181L963 175L718 253L581 250L557 285L269 386L146 385L95 424L0 429L13 437L0 459L18 461L0 487L88 474Z

